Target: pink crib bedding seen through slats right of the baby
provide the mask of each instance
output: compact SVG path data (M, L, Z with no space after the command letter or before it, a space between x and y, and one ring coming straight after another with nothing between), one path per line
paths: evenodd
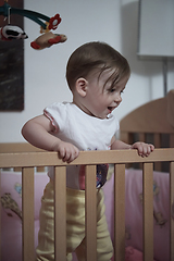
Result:
M107 219L113 239L113 182L104 186ZM125 171L125 237L127 260L142 260L142 172ZM154 259L170 260L170 175L153 172L153 229ZM173 206L174 208L174 206ZM171 213L174 219L174 212Z

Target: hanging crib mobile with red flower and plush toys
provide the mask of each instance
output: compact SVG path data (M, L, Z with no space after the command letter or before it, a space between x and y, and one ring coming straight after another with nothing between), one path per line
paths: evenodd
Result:
M30 42L32 48L36 50L41 50L46 47L50 47L59 42L64 42L67 39L65 35L53 34L50 32L50 29L57 29L58 25L61 23L60 14L55 14L53 17L48 17L41 13L30 10L12 8L8 4L8 0L5 0L4 4L0 7L0 15L4 15L5 17L8 17L8 25L0 28L0 40L28 38L26 33L22 28L10 24L10 14L23 15L40 25L40 33L42 35L39 36L35 41ZM44 20L45 23L41 20Z

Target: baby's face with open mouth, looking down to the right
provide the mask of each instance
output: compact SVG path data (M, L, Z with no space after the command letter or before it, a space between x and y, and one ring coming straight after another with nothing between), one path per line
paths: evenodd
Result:
M119 83L113 85L112 73L113 71L107 70L100 76L99 74L94 74L87 79L88 85L84 104L86 108L85 112L89 115L107 119L121 103L121 95L128 77L123 77Z

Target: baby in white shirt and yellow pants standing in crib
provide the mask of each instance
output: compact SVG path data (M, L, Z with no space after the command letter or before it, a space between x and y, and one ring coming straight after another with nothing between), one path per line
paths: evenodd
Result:
M28 121L22 134L32 145L57 151L64 162L75 160L83 150L136 149L148 157L153 145L127 145L115 138L119 122L112 114L122 102L122 92L130 75L127 60L104 42L88 42L69 59L66 79L73 94L72 102L55 102L44 114ZM113 247L104 215L102 186L108 166L97 166L97 260L109 261ZM100 175L99 175L100 173ZM54 260L53 170L49 171L40 210L37 260ZM85 260L85 167L66 169L66 260L76 252Z

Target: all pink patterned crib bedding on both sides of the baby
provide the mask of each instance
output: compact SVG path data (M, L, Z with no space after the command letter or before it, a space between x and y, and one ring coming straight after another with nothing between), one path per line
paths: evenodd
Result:
M125 171L126 210L125 210L125 260L142 260L142 174L139 170ZM170 206L169 174L153 173L153 216L154 216L154 260L170 260ZM35 246L39 229L40 199L48 183L47 172L35 174ZM113 190L114 175L103 187L105 214L111 238L114 238ZM22 176L16 172L1 172L2 206L2 261L22 260ZM174 217L174 213L173 217ZM11 249L9 251L9 249ZM76 258L74 257L73 261Z

